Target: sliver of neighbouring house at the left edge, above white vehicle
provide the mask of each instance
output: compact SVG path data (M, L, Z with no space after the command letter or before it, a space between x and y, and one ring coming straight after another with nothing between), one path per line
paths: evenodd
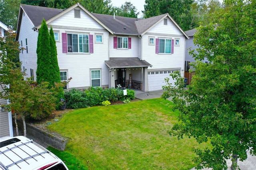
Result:
M4 37L4 32L8 31L8 27L0 21L0 37ZM1 74L1 72L0 72ZM0 91L5 84L0 84ZM13 137L12 129L12 112L8 112L6 107L2 105L9 104L8 100L0 98L0 137L10 136Z

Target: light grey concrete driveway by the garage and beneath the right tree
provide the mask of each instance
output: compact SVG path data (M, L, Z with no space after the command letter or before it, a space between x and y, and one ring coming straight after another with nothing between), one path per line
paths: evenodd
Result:
M160 98L164 92L164 90L156 90L151 92L142 92L140 90L134 90L134 91L135 91L135 98L138 98L140 100ZM168 100L171 101L171 98L168 98ZM247 159L244 160L243 162L238 160L238 166L241 170L256 170L256 156L252 156L248 151ZM195 168L192 168L191 170L195 170ZM205 168L203 170L212 170L212 168L210 169Z

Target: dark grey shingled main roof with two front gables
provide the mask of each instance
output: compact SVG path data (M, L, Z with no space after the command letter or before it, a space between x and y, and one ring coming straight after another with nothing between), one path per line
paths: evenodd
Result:
M28 15L34 25L34 29L36 30L40 29L43 18L46 20L46 24L48 24L51 21L56 20L60 16L66 14L67 12L70 12L70 10L73 10L76 7L80 7L82 10L84 10L84 12L86 12L90 17L92 17L95 21L97 21L112 34L144 35L152 27L154 27L164 18L168 17L174 23L174 25L176 25L176 27L182 32L182 34L189 39L188 35L180 28L180 26L172 19L169 14L162 14L160 16L154 16L151 18L140 20L137 18L94 14L86 10L86 8L84 8L81 4L77 3L70 8L64 10L22 4L20 6L20 12L18 17L16 40L18 39L23 12Z

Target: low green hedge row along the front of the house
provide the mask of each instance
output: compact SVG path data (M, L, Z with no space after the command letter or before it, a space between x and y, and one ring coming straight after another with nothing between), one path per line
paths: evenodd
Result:
M78 109L89 106L102 105L102 102L132 100L135 98L134 90L127 89L127 95L124 96L123 90L119 88L90 87L87 90L71 89L65 91L66 108Z

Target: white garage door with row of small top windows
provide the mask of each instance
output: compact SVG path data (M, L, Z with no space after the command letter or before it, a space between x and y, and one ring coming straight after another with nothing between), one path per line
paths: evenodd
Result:
M170 73L176 70L148 71L148 90L162 90L162 86L166 85L164 78L170 78L169 82L174 84L174 80Z

